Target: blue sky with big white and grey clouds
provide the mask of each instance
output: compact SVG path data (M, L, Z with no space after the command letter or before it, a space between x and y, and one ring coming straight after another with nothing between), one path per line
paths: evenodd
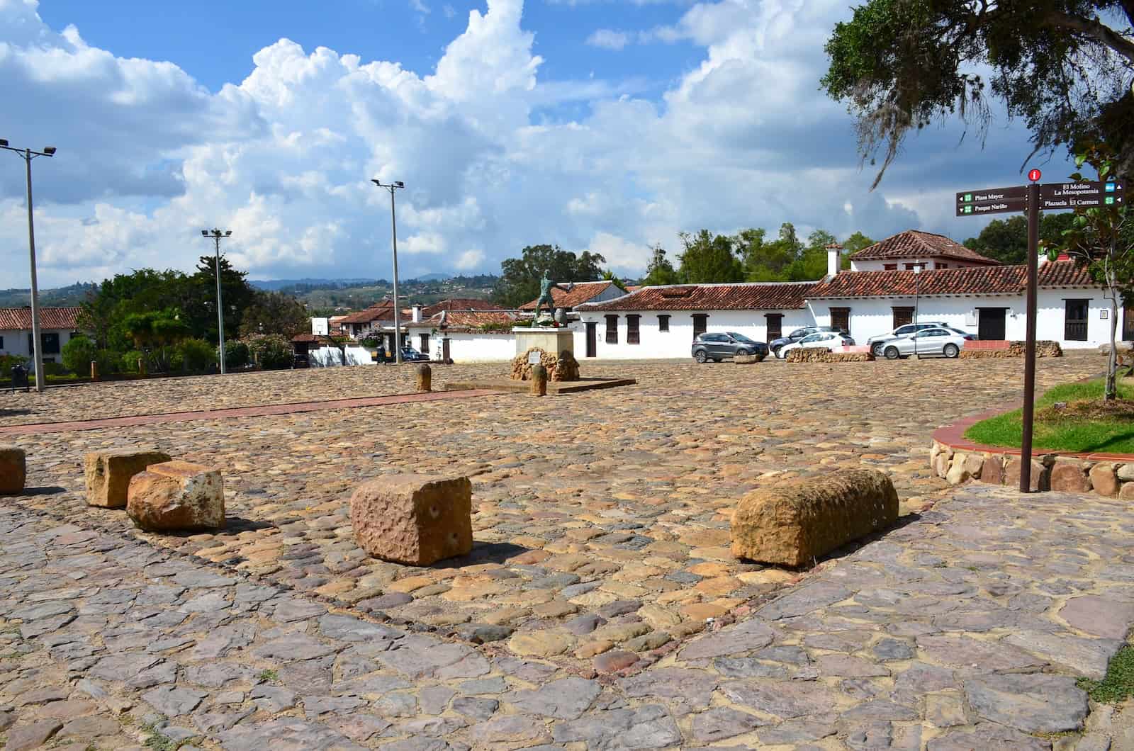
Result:
M0 137L35 167L41 284L194 265L253 278L498 271L527 244L636 276L677 234L792 221L957 239L953 193L1022 182L1019 124L911 140L878 191L818 90L844 0L0 0ZM25 143L26 142L26 143ZM42 142L42 144L40 143ZM959 145L958 145L959 142ZM1061 160L1059 160L1061 162ZM27 285L0 161L0 287ZM1064 163L1041 164L1059 179Z

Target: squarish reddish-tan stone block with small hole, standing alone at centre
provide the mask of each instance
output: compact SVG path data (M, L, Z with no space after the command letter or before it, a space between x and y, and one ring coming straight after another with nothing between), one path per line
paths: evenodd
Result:
M350 496L358 546L382 560L429 566L473 549L468 478L401 474L371 480Z

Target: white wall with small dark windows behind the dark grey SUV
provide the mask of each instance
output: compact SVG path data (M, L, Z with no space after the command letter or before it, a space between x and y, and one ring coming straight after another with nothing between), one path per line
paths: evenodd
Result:
M811 313L807 310L786 311L696 311L709 314L706 331L736 331L756 341L767 341L768 327L765 313L784 315L782 332L789 334L801 326L811 326ZM665 357L689 357L693 346L693 312L689 311L617 311L618 344L607 344L607 319L613 315L602 311L579 311L582 323L575 331L575 358L586 360L585 323L596 323L598 360L653 360ZM626 343L626 317L637 314L641 344ZM669 331L658 330L658 315L669 315Z

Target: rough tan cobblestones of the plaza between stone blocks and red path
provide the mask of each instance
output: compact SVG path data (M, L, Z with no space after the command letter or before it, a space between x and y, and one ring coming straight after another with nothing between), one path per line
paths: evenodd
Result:
M1039 381L1081 378L1100 363L1041 360ZM638 386L23 436L29 486L53 491L16 503L339 607L591 665L616 647L662 648L797 579L728 549L731 509L762 482L874 466L891 474L906 512L931 503L947 484L929 470L930 433L1014 398L1018 366L623 363L601 372ZM364 370L396 369L333 372ZM86 506L83 453L128 446L220 466L229 528L145 535L121 510ZM352 489L405 471L473 476L469 556L412 568L366 558L354 543Z

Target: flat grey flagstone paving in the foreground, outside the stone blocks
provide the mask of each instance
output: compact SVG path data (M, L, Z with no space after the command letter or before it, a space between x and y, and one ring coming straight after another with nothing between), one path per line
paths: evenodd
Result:
M1128 749L1076 677L1134 621L1132 531L1116 500L971 486L595 674L6 505L0 729L5 751Z

